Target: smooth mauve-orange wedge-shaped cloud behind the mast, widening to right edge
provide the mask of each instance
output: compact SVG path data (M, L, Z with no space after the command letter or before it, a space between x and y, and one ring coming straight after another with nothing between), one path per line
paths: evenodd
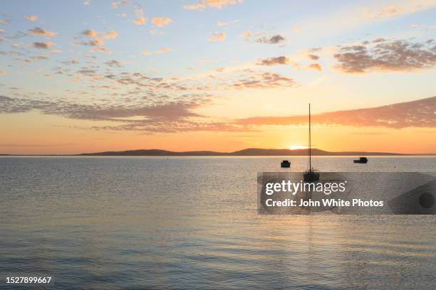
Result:
M436 97L389 104L381 107L352 109L347 111L315 114L312 124L344 125L353 127L436 127ZM237 124L261 125L303 125L307 124L307 116L290 117L250 117L237 120Z

